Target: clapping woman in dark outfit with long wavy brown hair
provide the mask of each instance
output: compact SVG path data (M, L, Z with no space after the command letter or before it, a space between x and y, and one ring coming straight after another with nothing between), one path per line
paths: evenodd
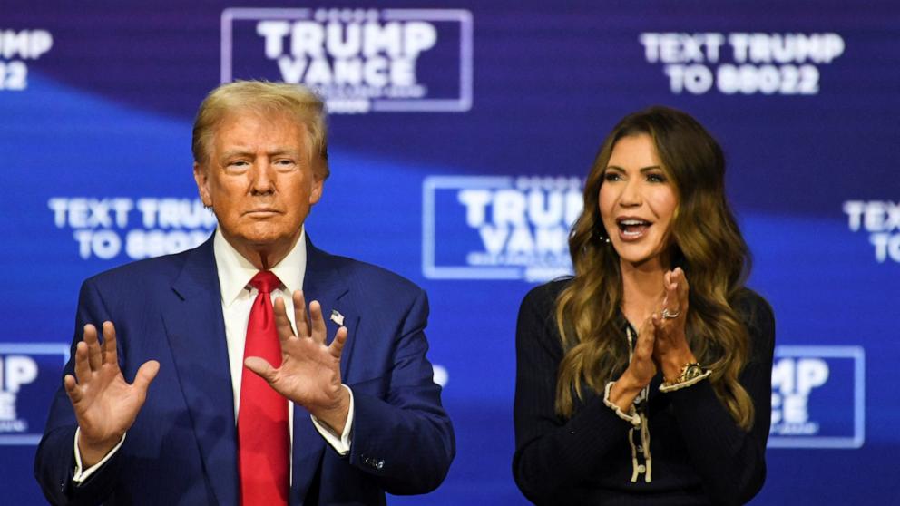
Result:
M515 482L539 504L740 504L766 477L775 322L719 144L654 107L604 141L569 239L574 277L516 331Z

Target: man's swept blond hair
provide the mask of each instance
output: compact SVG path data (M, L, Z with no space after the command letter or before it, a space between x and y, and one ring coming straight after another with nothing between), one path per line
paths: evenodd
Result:
M300 84L267 81L235 81L221 84L203 99L194 120L191 151L203 165L210 158L212 138L231 113L259 112L266 116L287 114L306 127L309 159L322 179L328 178L328 126L325 104L315 92Z

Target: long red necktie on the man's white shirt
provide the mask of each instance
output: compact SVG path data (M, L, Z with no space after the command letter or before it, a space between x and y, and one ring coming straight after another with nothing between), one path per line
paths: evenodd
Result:
M250 279L259 290L247 323L244 358L260 356L281 365L271 292L279 278L263 270ZM242 506L288 504L290 442L288 401L246 366L240 375L238 470Z

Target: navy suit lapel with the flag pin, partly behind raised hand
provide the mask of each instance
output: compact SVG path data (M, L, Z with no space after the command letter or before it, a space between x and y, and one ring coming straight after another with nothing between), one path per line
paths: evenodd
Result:
M322 306L322 314L328 327L328 341L334 338L343 317L343 325L347 327L347 345L341 355L341 378L347 383L347 365L353 351L358 316L347 297L349 287L337 265L335 257L314 247L307 236L307 268L303 276L303 294L307 303L318 300ZM337 311L332 318L332 311ZM313 477L322 459L327 443L316 431L306 409L296 406L294 409L294 443L293 443L293 497L306 497Z

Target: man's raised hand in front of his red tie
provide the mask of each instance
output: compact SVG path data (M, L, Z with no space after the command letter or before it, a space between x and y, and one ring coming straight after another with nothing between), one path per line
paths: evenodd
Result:
M340 380L340 355L347 342L347 327L338 328L334 340L327 345L328 328L318 301L309 304L308 314L303 292L296 290L293 302L296 335L284 300L275 299L281 366L273 367L259 356L248 357L244 365L269 382L276 392L307 408L319 422L342 433L350 409L350 394Z

